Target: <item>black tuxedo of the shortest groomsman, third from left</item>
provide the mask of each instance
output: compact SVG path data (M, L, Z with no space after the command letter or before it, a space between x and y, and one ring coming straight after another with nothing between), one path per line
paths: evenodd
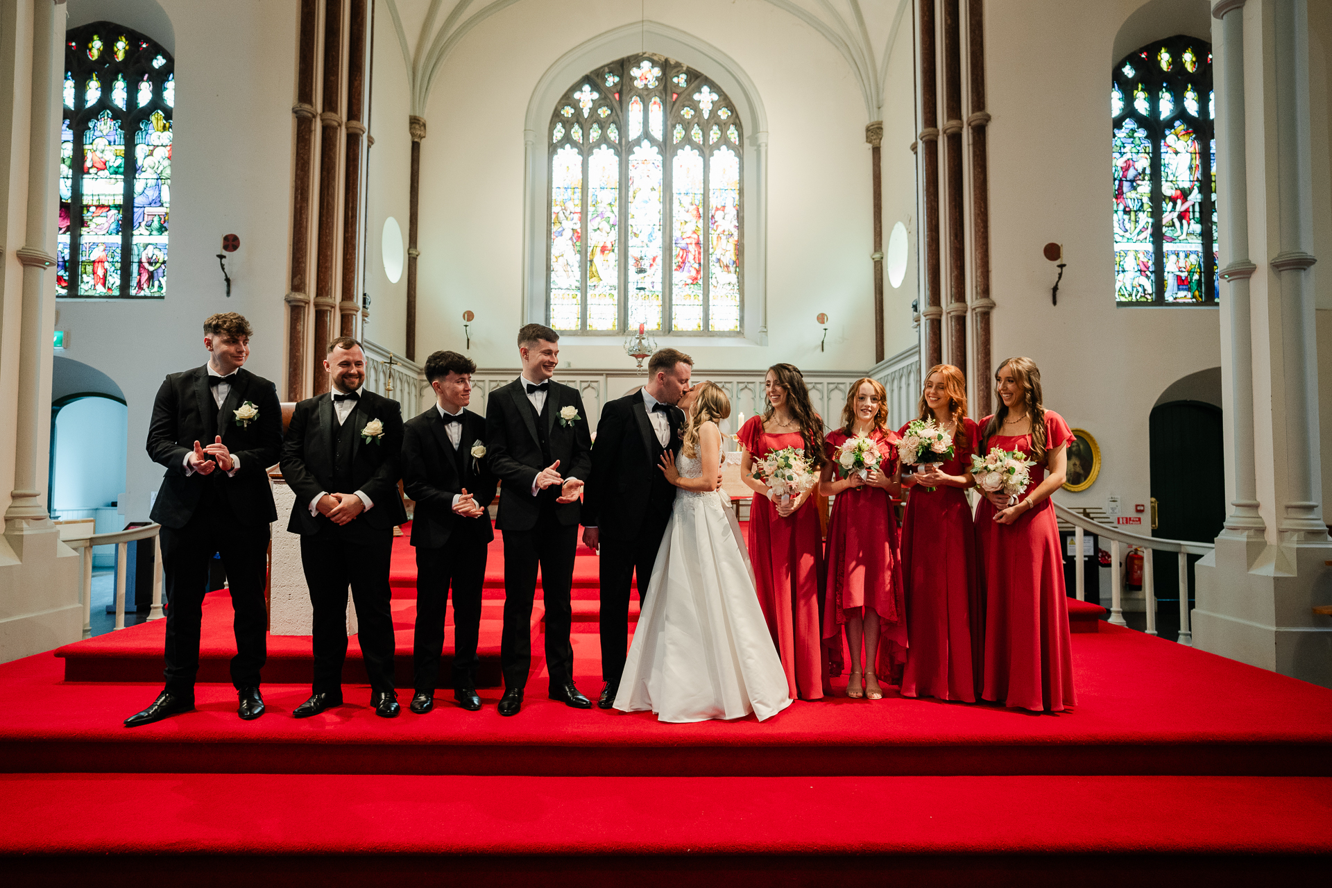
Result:
M473 457L485 446L486 421L464 410L457 422L458 445L434 405L402 425L402 487L416 501L412 545L417 559L417 620L413 643L416 691L434 694L444 647L445 606L453 584L453 687L474 687L477 635L481 628L481 588L486 578L486 547L494 539L489 513L464 518L453 501L464 490L486 509L496 498L489 458Z

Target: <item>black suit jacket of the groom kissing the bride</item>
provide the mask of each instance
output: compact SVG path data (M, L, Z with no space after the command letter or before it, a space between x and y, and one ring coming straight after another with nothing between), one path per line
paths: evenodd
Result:
M666 417L670 421L666 449L675 451L685 411L673 406ZM658 446L642 390L615 398L601 409L597 443L591 449L591 477L583 495L583 525L599 527L602 535L611 539L633 539L649 511L654 485L665 485L657 505L670 509L675 487L661 471Z

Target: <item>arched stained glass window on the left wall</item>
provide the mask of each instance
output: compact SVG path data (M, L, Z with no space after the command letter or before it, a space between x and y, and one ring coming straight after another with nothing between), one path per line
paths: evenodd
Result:
M65 35L57 296L165 294L174 68L109 21Z

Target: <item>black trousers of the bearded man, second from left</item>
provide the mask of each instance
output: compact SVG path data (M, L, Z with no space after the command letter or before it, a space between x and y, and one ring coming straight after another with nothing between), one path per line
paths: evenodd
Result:
M360 521L360 519L356 519ZM373 691L393 690L389 562L393 529L354 538L341 529L301 537L301 566L314 606L314 694L340 694L346 660L346 590L356 606L357 642Z

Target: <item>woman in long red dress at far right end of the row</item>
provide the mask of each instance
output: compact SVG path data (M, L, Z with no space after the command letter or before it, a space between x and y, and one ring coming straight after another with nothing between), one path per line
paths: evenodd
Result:
M1042 403L1040 370L1031 358L1008 358L999 365L995 382L1003 406L982 419L979 453L1020 450L1036 465L1016 503L987 493L976 509L986 595L982 696L1059 712L1071 708L1075 698L1064 562L1050 495L1064 483L1074 435L1063 417Z

